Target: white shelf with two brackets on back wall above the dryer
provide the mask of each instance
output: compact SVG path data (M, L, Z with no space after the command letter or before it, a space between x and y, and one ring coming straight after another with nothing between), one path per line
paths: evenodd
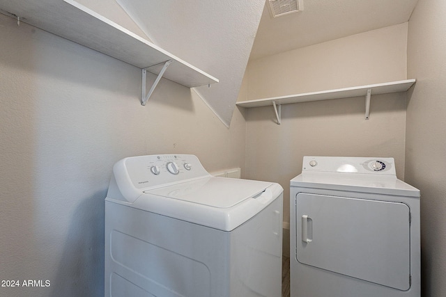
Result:
M273 106L275 109L277 124L280 125L280 111L282 104L292 104L300 102L311 102L311 101L321 101L329 99L341 99L349 97L366 97L366 115L365 118L369 118L369 107L370 107L370 96L387 94L387 93L398 93L406 92L413 84L415 79L406 79L404 81L392 81L388 83L376 83L367 86L356 86L351 88L341 88L334 90L323 90L320 92L312 93L300 93L295 95L287 95L280 97L270 97L264 99L254 99L237 102L238 106L252 108L260 106ZM277 109L279 106L279 109Z

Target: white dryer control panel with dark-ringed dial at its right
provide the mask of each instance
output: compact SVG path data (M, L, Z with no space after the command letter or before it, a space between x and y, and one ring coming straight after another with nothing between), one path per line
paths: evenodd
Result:
M347 172L397 175L393 158L304 156L302 172Z

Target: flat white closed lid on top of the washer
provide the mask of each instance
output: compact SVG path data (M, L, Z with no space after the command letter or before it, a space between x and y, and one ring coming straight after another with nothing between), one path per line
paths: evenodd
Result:
M262 193L271 184L249 179L205 177L144 193L226 209Z

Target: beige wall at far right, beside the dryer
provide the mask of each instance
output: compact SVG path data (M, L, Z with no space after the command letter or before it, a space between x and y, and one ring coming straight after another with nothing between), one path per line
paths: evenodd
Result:
M422 296L446 296L446 1L420 0L410 17L406 181L421 191Z

